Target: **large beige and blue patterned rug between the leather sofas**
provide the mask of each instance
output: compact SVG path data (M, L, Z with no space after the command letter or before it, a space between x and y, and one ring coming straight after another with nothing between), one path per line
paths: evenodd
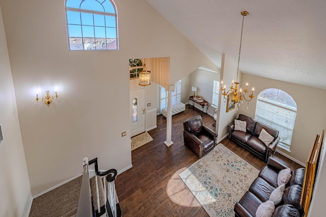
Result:
M209 216L234 216L234 204L258 173L220 143L179 176Z

